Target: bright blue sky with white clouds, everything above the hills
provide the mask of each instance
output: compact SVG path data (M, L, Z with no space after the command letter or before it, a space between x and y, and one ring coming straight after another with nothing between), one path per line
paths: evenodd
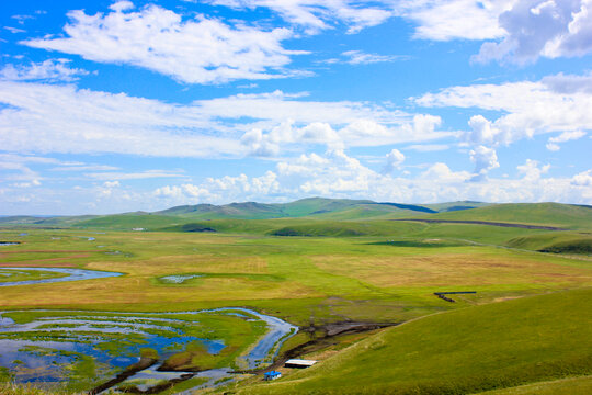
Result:
M592 0L0 2L0 214L592 204Z

